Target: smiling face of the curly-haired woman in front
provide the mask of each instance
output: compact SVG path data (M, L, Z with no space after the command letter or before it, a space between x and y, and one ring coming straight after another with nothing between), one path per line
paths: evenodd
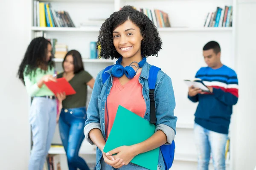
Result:
M141 41L143 37L140 28L130 20L113 30L113 44L116 51L123 58L130 58L141 55Z

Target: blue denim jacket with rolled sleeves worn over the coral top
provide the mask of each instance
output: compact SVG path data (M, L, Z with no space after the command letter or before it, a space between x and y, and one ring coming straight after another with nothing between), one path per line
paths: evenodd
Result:
M149 100L149 88L148 88L148 75L149 75L149 65L147 62L142 67L142 71L139 77L139 82L143 87L143 97L146 103L146 112L144 119L150 121L150 100ZM112 68L111 68L112 69ZM107 72L111 74L111 69ZM93 92L91 99L87 108L87 120L84 127L85 139L93 145L90 139L89 132L94 128L98 128L102 132L102 136L105 139L105 102L106 97L110 93L112 87L113 76L111 74L110 78L102 84L102 73L103 70L99 72L96 77L95 84L93 86ZM157 82L155 87L155 101L156 101L156 131L162 130L167 136L167 143L171 144L175 138L176 134L176 122L177 117L174 116L175 109L175 96L172 88L172 80L163 71L159 71L157 74ZM96 150L96 169L100 170L100 159L102 157L102 152L97 147ZM161 151L159 151L158 168L160 170L165 169L163 156Z

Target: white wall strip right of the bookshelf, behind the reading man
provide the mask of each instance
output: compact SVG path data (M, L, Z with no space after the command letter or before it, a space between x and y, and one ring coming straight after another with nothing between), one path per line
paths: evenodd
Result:
M237 6L237 73L239 103L236 114L234 170L256 167L256 0L239 0Z

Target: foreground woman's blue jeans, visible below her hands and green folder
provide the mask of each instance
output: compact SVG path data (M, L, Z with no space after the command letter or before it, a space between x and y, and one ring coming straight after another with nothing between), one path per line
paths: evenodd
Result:
M145 167L141 167L137 164L130 163L128 165L123 165L121 168L113 168L109 164L106 164L104 161L104 158L102 157L100 160L101 169L102 170L148 170ZM157 170L160 170L159 167L157 167Z

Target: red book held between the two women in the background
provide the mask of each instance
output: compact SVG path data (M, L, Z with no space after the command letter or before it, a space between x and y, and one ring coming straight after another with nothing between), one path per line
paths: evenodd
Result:
M52 93L55 94L55 96L57 93L63 92L65 92L66 96L76 94L76 91L64 77L58 78L56 80L57 82L49 81L44 83L52 91Z

